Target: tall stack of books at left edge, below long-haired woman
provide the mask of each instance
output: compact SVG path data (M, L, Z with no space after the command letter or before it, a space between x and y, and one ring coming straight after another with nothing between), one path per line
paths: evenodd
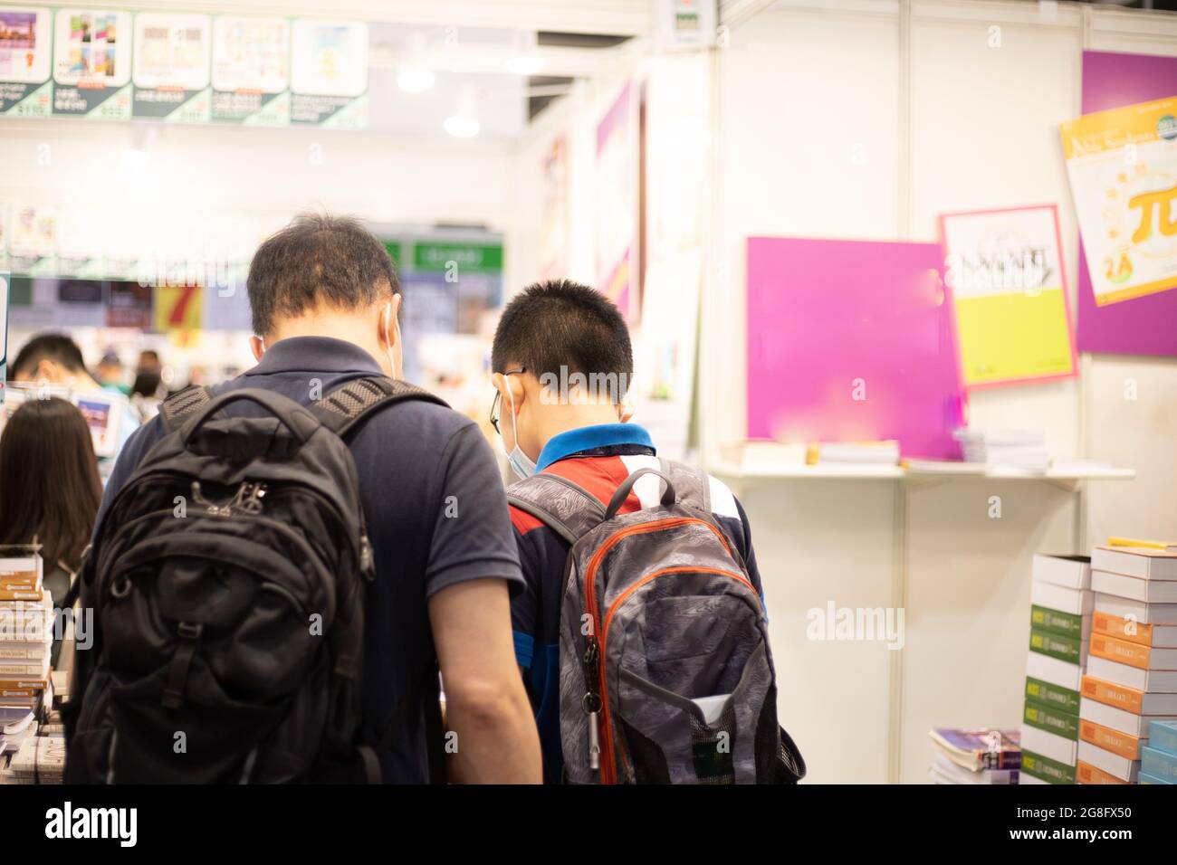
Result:
M35 708L49 683L53 595L36 547L0 547L0 706Z

